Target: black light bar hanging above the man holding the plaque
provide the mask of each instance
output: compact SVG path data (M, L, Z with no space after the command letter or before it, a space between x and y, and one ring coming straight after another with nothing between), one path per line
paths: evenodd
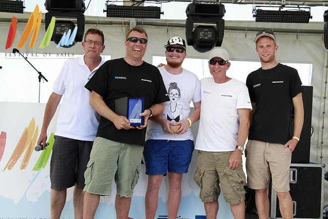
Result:
M107 17L131 17L131 18L155 18L160 19L161 7L156 6L126 6L107 4L106 10Z

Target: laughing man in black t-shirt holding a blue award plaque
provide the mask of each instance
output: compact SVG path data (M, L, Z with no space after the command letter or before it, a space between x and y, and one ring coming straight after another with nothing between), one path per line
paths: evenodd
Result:
M93 218L100 195L111 195L115 179L117 219L127 219L133 189L138 182L147 121L168 101L159 70L142 60L147 33L134 27L126 37L126 56L110 60L85 85L91 91L90 105L101 115L97 136L85 171L83 219ZM132 126L113 111L113 101L123 97L144 98L144 124Z

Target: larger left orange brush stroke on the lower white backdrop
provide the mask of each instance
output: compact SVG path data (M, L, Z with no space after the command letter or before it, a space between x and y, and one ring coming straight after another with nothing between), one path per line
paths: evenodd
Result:
M28 127L24 129L20 139L18 140L18 143L17 143L14 151L11 154L10 159L8 160L8 162L5 165L3 170L5 170L5 169L11 170L15 166L17 160L20 158L22 153L25 151L27 145L31 142L34 128L35 128L35 120L32 117Z

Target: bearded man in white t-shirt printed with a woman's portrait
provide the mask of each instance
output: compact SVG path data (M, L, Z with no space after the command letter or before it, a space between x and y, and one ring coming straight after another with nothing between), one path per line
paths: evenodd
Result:
M148 187L145 197L146 219L154 219L159 189L164 175L168 175L168 219L176 219L180 199L182 174L188 172L194 150L190 126L199 119L200 82L197 76L181 67L186 57L185 41L172 37L164 46L167 65L159 68L169 101L164 110L148 123L144 158ZM191 113L190 102L195 110ZM167 173L168 172L168 173Z

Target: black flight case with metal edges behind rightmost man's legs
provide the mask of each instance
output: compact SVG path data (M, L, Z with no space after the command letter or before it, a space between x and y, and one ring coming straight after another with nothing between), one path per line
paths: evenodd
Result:
M290 195L294 219L322 219L324 208L325 173L321 164L292 164L290 166ZM276 192L269 188L270 218L281 219Z

